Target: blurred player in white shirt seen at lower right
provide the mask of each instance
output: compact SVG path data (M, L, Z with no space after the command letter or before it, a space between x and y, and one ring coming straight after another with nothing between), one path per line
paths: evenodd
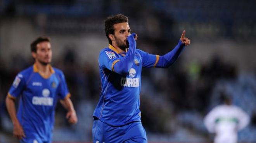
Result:
M249 123L249 116L232 105L230 98L216 106L205 117L204 124L210 133L216 133L214 143L237 143L237 132Z

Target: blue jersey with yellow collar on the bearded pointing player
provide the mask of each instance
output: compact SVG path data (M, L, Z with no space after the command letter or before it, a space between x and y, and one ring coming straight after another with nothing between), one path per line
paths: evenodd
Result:
M120 126L140 121L140 84L142 67L155 67L159 56L136 49L130 71L123 75L114 72L114 64L126 53L119 53L112 45L99 55L102 91L93 113L104 123Z

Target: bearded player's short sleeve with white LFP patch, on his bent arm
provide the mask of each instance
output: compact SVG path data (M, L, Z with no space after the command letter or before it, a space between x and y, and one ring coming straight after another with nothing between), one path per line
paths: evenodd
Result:
M117 54L112 50L105 50L100 52L99 56L99 66L105 67L111 71L114 71L114 64L120 61Z

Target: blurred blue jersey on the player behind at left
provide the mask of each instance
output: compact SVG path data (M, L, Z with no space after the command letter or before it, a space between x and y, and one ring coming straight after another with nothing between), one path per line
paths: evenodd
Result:
M53 67L50 71L50 77L43 77L34 64L17 74L8 93L9 98L20 97L17 118L28 138L36 133L49 141L57 101L70 96L63 72Z

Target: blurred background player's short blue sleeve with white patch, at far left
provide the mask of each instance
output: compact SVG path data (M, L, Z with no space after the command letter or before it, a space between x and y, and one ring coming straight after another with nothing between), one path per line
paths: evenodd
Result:
M22 93L25 85L26 82L24 76L21 73L17 74L7 96L16 99Z

